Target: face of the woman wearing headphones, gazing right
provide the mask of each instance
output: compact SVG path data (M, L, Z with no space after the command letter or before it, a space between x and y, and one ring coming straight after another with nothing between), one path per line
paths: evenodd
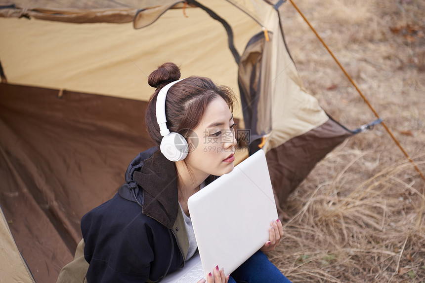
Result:
M234 125L229 106L217 96L193 130L198 137L198 145L195 146L192 139L188 140L191 148L185 161L195 176L221 176L233 170L236 144Z

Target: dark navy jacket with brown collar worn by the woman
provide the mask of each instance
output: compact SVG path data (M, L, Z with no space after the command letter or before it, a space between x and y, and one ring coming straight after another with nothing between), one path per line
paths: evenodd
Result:
M174 163L157 147L139 153L126 183L83 216L81 230L89 283L158 282L183 266L189 241Z

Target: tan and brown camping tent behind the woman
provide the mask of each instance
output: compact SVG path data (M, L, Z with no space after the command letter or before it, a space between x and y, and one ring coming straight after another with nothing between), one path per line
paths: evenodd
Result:
M281 212L353 134L305 91L283 3L0 0L1 247L10 251L0 276L56 282L81 240L81 217L115 194L129 161L151 146L147 75L168 61L182 77L208 76L240 94L237 160L266 151Z

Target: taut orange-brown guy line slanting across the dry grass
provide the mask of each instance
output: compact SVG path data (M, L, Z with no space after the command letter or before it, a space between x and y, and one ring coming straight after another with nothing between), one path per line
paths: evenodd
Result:
M334 58L335 62L337 62L338 66L340 66L341 70L344 72L344 74L347 76L348 80L353 84L353 86L356 88L357 92L360 94L360 96L363 98L363 100L366 102L366 104L369 106L369 108L372 110L372 112L377 116L378 119L381 119L378 115L378 112L375 111L374 107L369 103L367 98L363 95L362 91L357 87L357 84L353 81L353 79L350 77L350 75L345 71L344 67L340 64L340 61L338 61L337 57L335 57L334 53L329 49L328 45L326 45L325 41L323 41L322 37L316 32L316 30L313 28L313 26L310 24L310 22L305 18L304 14L298 9L297 5L294 3L293 0L290 0L292 5L295 7L295 9L298 11L298 13L301 15L301 17L304 19L304 21L307 23L307 25L310 27L310 29L313 31L313 33L319 38L320 42L322 42L323 46L325 46L326 50L328 50L329 54L331 54L332 58ZM394 137L394 135L391 133L391 131L388 129L388 127L385 125L384 122L382 122L383 127L387 131L387 133L390 135L390 137L393 139L393 141L398 145L398 147L401 149L401 151L404 153L404 155L409 159L410 163L413 164L413 167L415 167L416 171L418 171L419 175L425 180L424 174L421 172L421 170L416 166L415 162L413 162L412 158L410 158L409 154L404 150L403 146L400 144L400 142L397 141L397 139ZM424 192L423 192L424 193Z

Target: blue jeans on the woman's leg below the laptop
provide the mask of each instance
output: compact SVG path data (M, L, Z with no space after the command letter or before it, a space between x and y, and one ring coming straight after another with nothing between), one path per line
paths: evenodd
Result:
M257 251L232 274L228 283L291 283L262 251Z

